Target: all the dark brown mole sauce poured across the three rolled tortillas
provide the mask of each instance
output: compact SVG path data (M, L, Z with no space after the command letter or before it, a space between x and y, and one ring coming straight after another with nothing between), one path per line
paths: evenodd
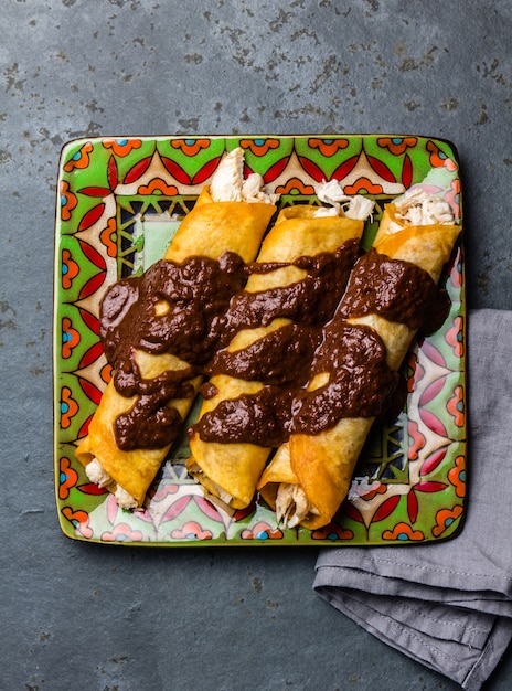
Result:
M360 255L358 241L349 241L334 253L300 257L292 264L307 272L305 278L259 293L243 289L247 277L288 264L244 264L233 253L218 262L200 256L181 264L162 259L142 276L113 286L102 302L100 336L117 391L138 396L116 419L119 448L171 444L183 421L166 404L191 397L189 381L198 374L224 373L263 384L256 394L220 402L189 429L205 442L273 447L290 434L329 429L341 417L396 415L405 402L403 378L387 366L381 337L346 319L376 312L427 333L444 322L448 301L414 264L374 249ZM162 304L166 313L157 316L154 307ZM241 329L267 326L276 318L292 323L247 348L227 350ZM136 349L172 353L188 366L143 379ZM327 373L328 381L308 391L307 381L317 373ZM213 397L217 392L206 382L201 393Z

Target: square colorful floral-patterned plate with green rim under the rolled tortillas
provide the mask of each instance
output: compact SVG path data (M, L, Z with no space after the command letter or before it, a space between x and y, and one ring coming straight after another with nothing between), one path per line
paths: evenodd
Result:
M259 498L230 517L186 474L181 439L143 510L129 512L87 479L77 443L110 376L98 337L105 289L163 255L226 150L242 147L280 206L312 201L338 179L375 200L370 246L385 203L413 185L441 192L461 221L457 153L416 136L129 137L74 140L62 151L55 241L55 489L60 524L73 539L139 545L369 545L426 543L456 534L465 513L466 342L461 243L442 284L444 327L404 363L404 412L375 427L348 499L328 527L282 530ZM191 415L196 414L196 410ZM335 454L335 448L332 449Z

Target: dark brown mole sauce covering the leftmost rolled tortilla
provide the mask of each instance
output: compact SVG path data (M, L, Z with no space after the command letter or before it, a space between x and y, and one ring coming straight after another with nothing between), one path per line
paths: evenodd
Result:
M100 306L100 337L115 368L114 385L124 396L139 396L116 419L120 449L162 448L178 436L181 417L166 403L193 395L186 380L201 371L222 341L230 299L245 281L242 258L226 253L220 261L193 256L177 264L162 259L107 291ZM166 306L164 313L156 315L157 305ZM171 352L189 366L143 379L136 349Z

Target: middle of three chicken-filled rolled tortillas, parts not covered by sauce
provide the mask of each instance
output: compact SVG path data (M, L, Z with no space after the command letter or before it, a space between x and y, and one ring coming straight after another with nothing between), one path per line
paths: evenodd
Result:
M338 183L334 184L338 185ZM330 185L328 189L332 191L332 184L328 183L328 185ZM323 188L319 191L320 199L322 199L322 191ZM258 305L264 305L274 289L298 287L301 281L308 279L307 270L297 266L300 258L320 256L322 253L331 254L342 247L348 265L335 286L335 291L333 290L332 295L329 296L331 300L329 315L332 316L344 289L350 267L359 254L359 242L363 233L364 220L372 212L373 202L361 196L343 196L342 201L345 206L342 209L339 202L335 202L337 205L334 205L331 199L327 201L332 204L329 209L296 205L280 212L257 257L257 264L271 266L277 263L277 266L273 270L255 272L250 275L245 288L245 297L249 297L248 313L257 313ZM280 266L280 264L284 265ZM235 333L227 347L228 353L236 355L239 353L243 355L244 352L248 353L246 359L250 363L250 349L254 349L257 360L260 341L273 338L273 332L276 336L280 330L290 329L291 331L297 325L300 328L300 325L303 323L314 323L320 315L312 312L318 311L319 302L328 301L328 296L323 295L320 288L317 294L317 304L309 306L310 313L300 315L294 310L288 312L285 307L279 307L274 312L271 309L269 311L262 309L260 321L256 318L254 322L249 318L250 323ZM236 297L234 304L236 307ZM271 300L268 304L270 305ZM303 305L299 305L299 308L303 308ZM280 311L281 309L282 311ZM329 308L327 307L327 309ZM329 315L323 318L330 318ZM285 349L282 344L279 344L278 348L280 351ZM290 352L292 346L288 344L286 348ZM311 355L312 351L309 358ZM280 357L281 360L285 359L285 366L294 369L294 364L286 362L284 352L280 352ZM286 374L281 374L278 381L273 382L273 385L277 389L279 386L286 387L284 378L286 379ZM214 395L204 400L199 423L191 430L191 457L186 467L189 472L205 487L214 501L222 503L227 509L243 509L252 502L255 496L256 485L273 450L274 439L270 438L273 432L267 428L265 433L262 429L256 429L256 437L268 434L265 440L257 439L257 443L234 440L230 430L231 421L234 421L237 427L238 419L243 416L244 419L248 419L249 426L257 427L258 413L254 404L254 396L265 396L268 393L273 400L276 400L276 396L282 394L282 391L270 391L268 380L260 381L257 378L250 379L250 376L245 375L234 376L224 372L214 373L209 387L214 392ZM245 397L247 402L244 410L239 407L241 396ZM218 411L225 411L230 402L233 402L233 407L226 417L225 412L218 413ZM258 405L265 406L265 398L262 398ZM210 421L209 424L213 421L216 427L222 429L218 439L202 438L202 434L204 435L202 424L205 419Z

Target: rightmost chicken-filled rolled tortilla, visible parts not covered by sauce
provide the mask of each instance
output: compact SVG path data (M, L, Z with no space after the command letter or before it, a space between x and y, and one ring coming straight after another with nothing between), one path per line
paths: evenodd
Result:
M460 231L445 201L415 189L387 204L373 251L391 259L412 263L437 284ZM397 371L417 330L398 319L391 320L372 311L361 313L365 311L364 305L354 313L350 291L351 283L337 318L375 332L384 343L388 368ZM399 307L398 300L398 311ZM314 391L324 383L320 373L308 389ZM345 416L316 435L300 430L291 434L258 482L259 492L275 508L279 520L288 527L300 524L308 529L320 528L332 520L348 493L373 423L373 416Z

